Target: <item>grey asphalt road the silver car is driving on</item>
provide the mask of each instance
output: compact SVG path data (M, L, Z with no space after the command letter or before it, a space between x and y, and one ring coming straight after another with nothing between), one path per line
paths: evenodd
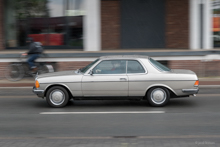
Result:
M161 108L89 100L51 108L31 88L0 88L0 100L1 147L220 146L219 89Z

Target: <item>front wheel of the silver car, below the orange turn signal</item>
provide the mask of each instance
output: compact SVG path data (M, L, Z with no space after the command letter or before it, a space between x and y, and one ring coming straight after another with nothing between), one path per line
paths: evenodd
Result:
M69 102L69 94L65 88L54 86L47 91L46 100L51 107L61 108Z

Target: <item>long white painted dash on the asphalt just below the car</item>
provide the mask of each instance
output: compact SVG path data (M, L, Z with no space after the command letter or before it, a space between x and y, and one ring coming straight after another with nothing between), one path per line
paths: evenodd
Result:
M41 112L40 114L151 114L165 111L118 111L118 112Z

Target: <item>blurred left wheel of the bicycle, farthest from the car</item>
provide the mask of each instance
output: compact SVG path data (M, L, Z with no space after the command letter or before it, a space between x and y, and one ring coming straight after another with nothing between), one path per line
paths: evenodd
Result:
M24 77L24 69L22 65L10 64L6 67L5 77L9 81L19 81Z

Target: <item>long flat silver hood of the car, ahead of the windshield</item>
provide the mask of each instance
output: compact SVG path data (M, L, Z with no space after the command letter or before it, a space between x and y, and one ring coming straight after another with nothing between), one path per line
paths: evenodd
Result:
M78 75L75 70L70 71L60 71L60 72L52 72L38 75L37 78L44 78L44 77L54 77L54 76L67 76L67 75Z

